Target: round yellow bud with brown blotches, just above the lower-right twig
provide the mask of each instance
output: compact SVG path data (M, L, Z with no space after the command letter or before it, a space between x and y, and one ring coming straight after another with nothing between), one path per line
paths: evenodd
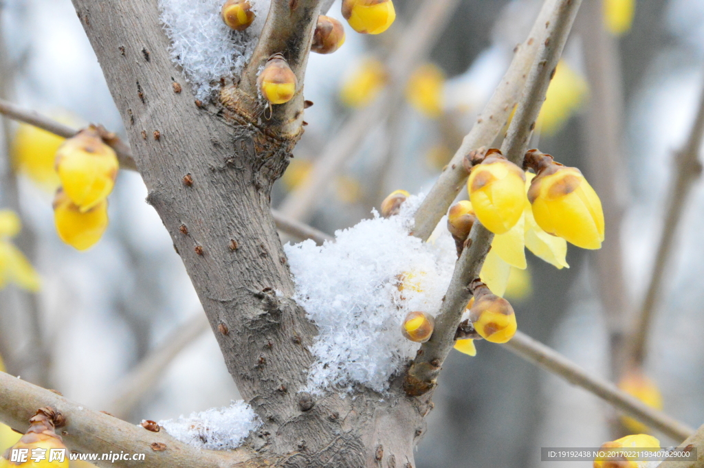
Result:
M491 343L505 343L516 333L516 315L504 298L489 291L486 285L474 286L474 304L470 320L479 336Z

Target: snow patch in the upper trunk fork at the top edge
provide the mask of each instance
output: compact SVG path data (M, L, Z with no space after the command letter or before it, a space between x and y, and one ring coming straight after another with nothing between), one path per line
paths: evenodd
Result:
M254 51L270 0L250 0L256 14L244 31L223 23L223 0L159 0L161 22L171 39L171 59L183 69L197 99L218 89L220 77L241 72Z

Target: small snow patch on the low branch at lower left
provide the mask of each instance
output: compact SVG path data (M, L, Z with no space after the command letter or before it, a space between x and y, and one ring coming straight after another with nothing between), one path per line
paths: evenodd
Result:
M210 408L190 417L159 421L173 438L209 450L231 450L239 447L251 431L261 423L244 401L233 401L232 405Z

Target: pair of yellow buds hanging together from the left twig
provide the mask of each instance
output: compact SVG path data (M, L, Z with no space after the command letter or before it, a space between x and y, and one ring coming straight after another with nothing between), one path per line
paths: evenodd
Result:
M108 195L119 163L97 127L90 125L65 141L56 152L61 188L54 197L54 222L61 240L83 251L100 240L108 227Z

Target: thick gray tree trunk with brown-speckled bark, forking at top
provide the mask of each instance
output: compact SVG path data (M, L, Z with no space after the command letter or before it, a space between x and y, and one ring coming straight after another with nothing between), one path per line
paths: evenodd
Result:
M399 382L385 395L356 388L344 399L313 401L299 393L316 328L291 300L270 190L302 132L303 72L318 1L272 1L268 23L290 8L288 27L265 27L267 44L258 46L241 87L209 105L195 103L170 62L156 0L73 4L122 115L147 202L181 255L241 395L263 421L246 445L277 460L271 466L413 466L429 397L408 398ZM280 24L280 16L273 19ZM294 56L299 89L290 105L262 121L251 70L276 44Z

